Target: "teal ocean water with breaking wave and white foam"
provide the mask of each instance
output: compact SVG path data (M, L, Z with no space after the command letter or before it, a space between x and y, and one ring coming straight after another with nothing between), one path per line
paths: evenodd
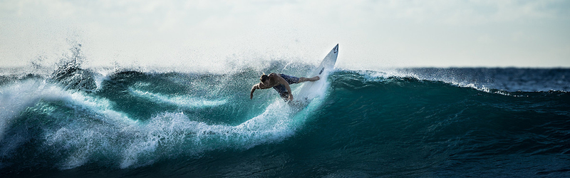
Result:
M1 177L570 177L570 69L0 69ZM295 94L301 84L291 85Z

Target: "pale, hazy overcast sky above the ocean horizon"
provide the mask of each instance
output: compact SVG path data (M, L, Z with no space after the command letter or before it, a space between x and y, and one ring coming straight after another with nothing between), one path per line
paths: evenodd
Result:
M0 67L570 67L570 1L0 1Z

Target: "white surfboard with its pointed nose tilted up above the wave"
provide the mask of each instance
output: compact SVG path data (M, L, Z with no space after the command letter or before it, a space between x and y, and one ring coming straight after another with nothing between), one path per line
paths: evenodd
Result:
M326 79L328 78L328 74L334 69L337 56L338 44L334 46L331 52L328 52L323 61L321 61L316 68L309 71L309 74L306 75L307 78L318 76L321 79L314 82L304 82L294 100L307 104L314 98L324 95L326 91Z

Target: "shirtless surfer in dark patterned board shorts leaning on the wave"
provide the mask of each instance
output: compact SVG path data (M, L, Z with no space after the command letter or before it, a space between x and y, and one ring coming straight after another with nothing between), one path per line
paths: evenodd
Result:
M302 83L302 82L306 82L306 81L316 81L319 78L318 76L314 76L312 78L297 78L295 76L291 76L291 75L285 75L285 74L276 74L276 73L270 73L269 75L265 75L265 73L263 75L261 75L261 78L259 78L259 80L261 80L260 83L255 84L252 87L252 93L249 94L249 99L253 99L254 98L254 91L256 89L267 89L267 88L274 88L275 90L277 90L277 92L279 93L279 95L281 96L281 98L283 98L284 100L293 100L293 94L291 94L291 87L289 87L289 84L293 84L293 83Z

